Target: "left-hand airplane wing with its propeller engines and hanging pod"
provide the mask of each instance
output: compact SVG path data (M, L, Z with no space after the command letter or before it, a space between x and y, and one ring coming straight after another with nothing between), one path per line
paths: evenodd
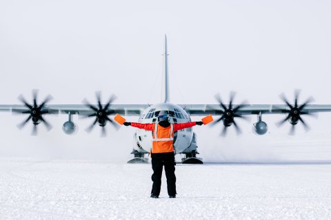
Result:
M9 111L16 114L26 115L26 118L17 124L19 129L22 129L26 124L32 122L32 135L37 135L37 125L44 124L48 131L52 129L52 125L46 120L45 115L48 114L67 114L68 121L63 124L63 131L67 134L72 134L77 131L76 124L72 122L72 115L79 114L85 117L94 117L94 122L88 126L87 132L92 131L93 127L99 123L101 126L101 137L106 136L106 123L107 121L114 126L115 129L119 129L119 124L114 122L113 115L119 113L126 116L140 116L142 111L149 107L148 104L101 104L99 101L97 104L37 104L34 101L33 104L28 104L23 100L24 104L2 104L0 105L0 111Z

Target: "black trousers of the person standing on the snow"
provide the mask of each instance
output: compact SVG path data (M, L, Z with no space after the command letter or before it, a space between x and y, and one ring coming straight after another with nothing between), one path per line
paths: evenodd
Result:
M152 194L160 195L161 177L164 166L165 176L167 177L168 195L176 195L176 176L174 175L174 152L152 153Z

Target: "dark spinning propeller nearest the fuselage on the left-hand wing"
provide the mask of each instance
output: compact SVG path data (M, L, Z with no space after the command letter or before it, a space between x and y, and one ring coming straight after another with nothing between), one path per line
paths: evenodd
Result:
M90 117L95 117L94 118L94 122L92 122L92 124L90 126L88 126L88 128L86 129L86 132L90 133L92 131L92 129L94 128L94 126L99 123L99 126L101 126L101 137L106 137L106 124L107 122L110 122L110 124L112 124L112 126L114 126L115 129L119 129L119 125L114 122L113 120L111 120L110 118L108 118L108 115L114 114L114 110L109 109L110 105L112 104L112 102L114 102L114 100L116 99L116 96L112 95L110 96L110 99L108 100L106 105L102 105L101 104L101 92L100 91L96 91L96 96L97 96L97 101L98 104L97 106L94 106L92 104L90 104L90 102L88 102L88 100L84 99L83 100L83 104L85 104L87 107L89 107L92 111L94 111L93 113L91 113L90 115L86 115L86 118L90 118Z

